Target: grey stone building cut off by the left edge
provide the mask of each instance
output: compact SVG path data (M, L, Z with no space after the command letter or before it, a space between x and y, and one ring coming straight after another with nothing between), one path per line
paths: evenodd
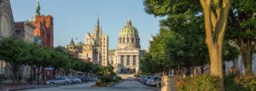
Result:
M14 18L9 0L0 0L0 38L13 36Z

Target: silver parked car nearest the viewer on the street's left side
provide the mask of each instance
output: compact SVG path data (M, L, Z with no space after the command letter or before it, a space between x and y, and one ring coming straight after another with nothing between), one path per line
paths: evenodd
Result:
M53 80L48 80L46 81L46 84L68 84L68 83L72 83L72 80L67 78L67 77L56 77Z

